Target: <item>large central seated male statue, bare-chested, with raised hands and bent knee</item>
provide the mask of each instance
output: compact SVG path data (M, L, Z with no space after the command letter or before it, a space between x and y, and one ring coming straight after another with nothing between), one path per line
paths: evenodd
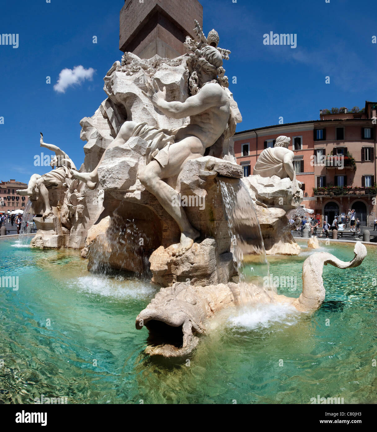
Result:
M163 146L149 149L153 151L150 151L150 156L147 157L147 165L139 175L139 180L177 222L181 230L181 238L179 245L172 248L172 253L179 256L192 247L199 232L188 222L184 207L173 205L178 200L178 194L164 180L177 176L188 160L204 156L205 149L216 143L226 130L230 115L229 96L219 84L220 76L222 77L224 72L223 56L219 49L209 44L204 44L200 48L195 51L196 94L187 98L185 102L167 102L166 88L160 90L155 81L148 83L148 93L143 92L167 117L176 119L189 117L189 124L168 132L155 128L148 129L145 124L137 125L126 121L108 147L109 149L126 143L131 136L136 136L135 130L143 130L145 135L148 136L149 133L153 137L160 134L160 143L162 142ZM93 172L74 172L74 177L85 181L88 187L94 188L98 181L97 168L104 156L105 154Z

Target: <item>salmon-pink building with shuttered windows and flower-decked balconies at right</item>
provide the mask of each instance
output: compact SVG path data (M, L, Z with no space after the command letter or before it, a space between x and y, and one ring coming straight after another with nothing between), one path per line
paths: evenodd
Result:
M252 175L255 162L280 135L291 138L294 168L303 183L302 206L314 210L321 223L354 208L362 226L373 226L376 206L376 109L321 110L320 120L281 124L237 132L237 162Z

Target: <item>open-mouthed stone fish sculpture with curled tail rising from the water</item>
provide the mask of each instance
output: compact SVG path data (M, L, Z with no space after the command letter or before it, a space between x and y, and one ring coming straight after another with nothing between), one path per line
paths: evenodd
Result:
M317 310L325 299L322 279L324 265L346 269L358 267L367 255L367 249L358 241L355 257L345 262L328 252L311 254L302 266L302 293L299 298L273 295L274 302L289 303L300 312ZM257 300L258 301L258 300ZM262 297L261 297L262 301ZM136 318L136 328L149 330L150 355L182 357L190 354L198 345L195 334L206 331L206 321L217 311L240 304L240 290L236 283L191 286L175 283L162 288L151 303Z

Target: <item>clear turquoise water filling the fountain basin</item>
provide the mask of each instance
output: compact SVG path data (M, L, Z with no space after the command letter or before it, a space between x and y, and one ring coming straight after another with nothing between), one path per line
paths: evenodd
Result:
M143 354L147 334L135 317L154 287L91 275L78 251L0 241L0 276L19 277L17 291L0 289L0 401L44 394L68 403L310 403L320 394L375 403L377 258L367 248L360 267L325 266L326 299L314 314L276 307L242 323L226 317L187 367ZM352 249L322 248L342 260ZM299 295L311 253L269 259L273 275L297 275L297 289L279 293Z

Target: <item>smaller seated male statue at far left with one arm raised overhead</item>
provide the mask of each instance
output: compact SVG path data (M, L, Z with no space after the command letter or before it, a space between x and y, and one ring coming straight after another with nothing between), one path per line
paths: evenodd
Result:
M48 189L55 189L65 183L66 178L72 178L72 169L76 169L72 159L63 152L59 147L53 144L47 144L43 142L43 135L41 134L41 147L55 152L55 156L51 159L50 166L56 169L48 172L44 175L33 174L29 180L27 189L20 189L17 191L19 195L29 195L34 193L35 187L38 187L39 195L44 201L45 211L43 217L52 216L52 210L50 206L50 198L48 195Z

